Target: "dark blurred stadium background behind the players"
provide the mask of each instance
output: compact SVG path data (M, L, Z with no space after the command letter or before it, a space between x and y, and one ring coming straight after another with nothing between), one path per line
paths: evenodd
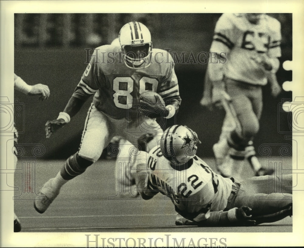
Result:
M19 130L19 143L42 144L46 152L41 158L66 159L77 151L89 99L71 123L58 130L50 139L45 138L44 125L57 117L71 97L87 64L87 51L102 44L110 44L118 36L119 29L129 21L147 25L152 35L153 47L171 49L180 56L185 52L185 61L191 52L208 52L215 23L221 14L15 14L15 73L28 84L43 83L50 88L50 98L38 102L15 92L15 101L22 110L15 117ZM282 62L292 60L292 14L270 14L282 25L282 57L277 73L282 86L292 81L292 72L282 68ZM92 50L91 53L92 54ZM224 118L223 110L200 107L204 86L206 64L177 63L182 104L177 123L194 129L202 145L201 157L211 157L212 145L218 140ZM291 100L291 92L282 92L274 99L269 86L264 87L264 108L260 131L255 146L269 143L287 143L290 134L289 115L280 111L283 101ZM173 124L170 120L168 125ZM31 152L31 151L27 151Z

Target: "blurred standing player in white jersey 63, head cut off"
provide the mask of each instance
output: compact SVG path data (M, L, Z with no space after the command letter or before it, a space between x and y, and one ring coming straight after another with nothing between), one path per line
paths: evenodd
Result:
M231 101L240 123L240 128L236 128L226 114L220 140L213 146L217 168L223 176L231 176L233 165L238 170L245 157L256 175L268 174L255 157L252 141L259 130L261 87L268 80L273 96L281 91L275 76L281 57L280 42L280 23L264 14L223 14L216 23L210 52L222 56L225 53L227 61L209 61L206 79L212 84L212 102ZM206 105L208 99L206 92L201 104Z

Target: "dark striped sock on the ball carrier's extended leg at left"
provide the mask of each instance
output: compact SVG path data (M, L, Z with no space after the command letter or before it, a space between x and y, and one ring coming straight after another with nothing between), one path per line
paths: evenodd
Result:
M64 167L61 169L60 175L63 179L70 180L75 176L84 173L92 164L92 161L82 158L78 153L75 153L64 162Z

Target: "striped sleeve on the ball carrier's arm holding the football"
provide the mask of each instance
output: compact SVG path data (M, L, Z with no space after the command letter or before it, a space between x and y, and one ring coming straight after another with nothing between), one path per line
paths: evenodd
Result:
M174 104L175 110L178 110L181 104L181 97L179 95L178 79L174 71L173 58L169 54L171 61L170 68L164 80L161 82L157 93L165 100L166 105Z

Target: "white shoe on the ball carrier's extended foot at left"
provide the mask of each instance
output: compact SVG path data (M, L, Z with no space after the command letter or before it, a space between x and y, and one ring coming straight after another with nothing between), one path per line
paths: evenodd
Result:
M59 194L60 188L56 189L52 184L54 179L55 178L51 178L48 180L41 188L38 196L35 197L34 208L40 214L47 210L52 201L54 201Z

